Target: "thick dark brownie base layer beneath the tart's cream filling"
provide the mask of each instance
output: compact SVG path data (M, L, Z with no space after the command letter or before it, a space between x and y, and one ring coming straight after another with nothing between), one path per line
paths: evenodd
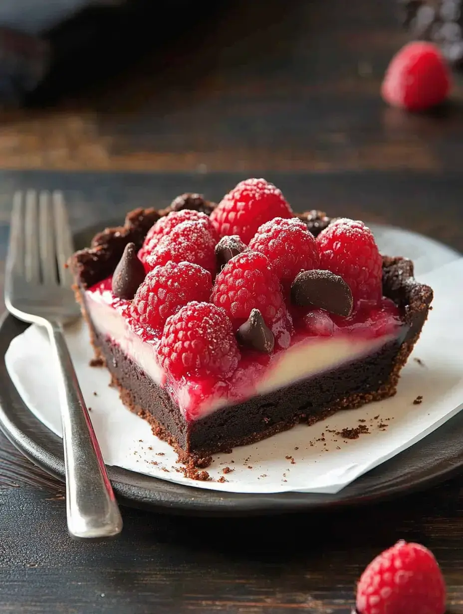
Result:
M182 461L192 459L197 467L207 467L213 453L255 443L298 422L314 424L336 411L390 397L395 394L390 372L400 352L399 344L390 343L366 360L186 422L167 392L119 346L98 334L96 339L124 404L147 419L155 435L185 452ZM402 360L412 344L402 346Z

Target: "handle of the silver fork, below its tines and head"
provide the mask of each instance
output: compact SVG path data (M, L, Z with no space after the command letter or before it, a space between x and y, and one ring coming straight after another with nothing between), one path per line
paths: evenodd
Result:
M112 537L122 530L121 512L77 381L63 327L59 322L47 322L47 330L60 373L69 534L77 539Z

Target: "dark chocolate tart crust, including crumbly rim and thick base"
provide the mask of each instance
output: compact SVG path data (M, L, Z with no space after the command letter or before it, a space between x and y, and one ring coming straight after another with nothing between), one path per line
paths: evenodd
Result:
M85 306L85 289L113 273L127 243L140 248L152 224L168 212L170 208L130 212L123 227L99 233L88 249L73 255L69 266L76 279L77 300L90 327L95 356L106 363L122 402L146 419L157 437L176 449L179 460L188 464L192 473L194 467L207 467L213 453L229 452L235 446L255 443L290 429L298 422L314 424L336 411L395 394L400 370L419 338L433 293L429 286L413 278L410 260L383 257L383 293L400 309L406 325L402 339L386 344L373 356L186 422L167 392L125 356L119 346L98 333ZM310 214L298 217L307 220Z

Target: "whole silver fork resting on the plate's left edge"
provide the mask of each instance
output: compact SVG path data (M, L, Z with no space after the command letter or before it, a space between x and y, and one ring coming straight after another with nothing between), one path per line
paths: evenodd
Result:
M73 253L61 192L14 196L6 263L5 303L14 316L45 327L60 375L66 467L66 511L75 538L117 535L122 518L85 406L63 325L79 316L65 268Z

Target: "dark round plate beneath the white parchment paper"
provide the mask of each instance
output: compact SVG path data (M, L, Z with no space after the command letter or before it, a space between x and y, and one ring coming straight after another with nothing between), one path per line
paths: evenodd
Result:
M89 229L76 237L77 246L88 244L94 234ZM384 227L374 228L381 246ZM413 245L410 257L422 258L421 272L430 265L443 264L459 254L430 239L395 231L392 243ZM403 238L402 238L403 236ZM389 237L389 235L388 235ZM388 238L388 243L390 237ZM434 254L431 257L430 254ZM61 439L28 410L9 378L5 353L10 341L23 332L26 324L6 315L0 322L0 429L34 464L60 480L65 465ZM191 488L121 469L108 467L114 491L121 503L176 514L191 515L264 515L359 505L385 497L406 494L430 486L456 473L463 465L463 412L446 422L424 440L398 454L355 480L334 495L286 492L277 494L239 494Z

